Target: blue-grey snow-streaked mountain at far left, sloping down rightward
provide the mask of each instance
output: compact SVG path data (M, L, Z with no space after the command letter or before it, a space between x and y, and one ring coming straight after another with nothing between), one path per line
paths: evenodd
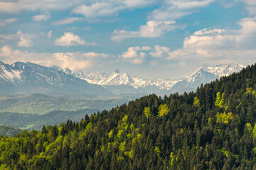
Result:
M68 72L68 69L65 72ZM102 86L89 84L65 72L30 62L16 62L11 65L0 62L0 94L112 95Z

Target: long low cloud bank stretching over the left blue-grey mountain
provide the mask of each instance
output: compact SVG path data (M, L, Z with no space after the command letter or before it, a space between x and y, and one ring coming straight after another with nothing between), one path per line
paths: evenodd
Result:
M36 57L35 57L36 56ZM0 47L0 60L9 64L14 62L33 62L46 67L57 65L60 68L86 69L95 67L102 62L107 61L106 54L97 52L55 52L55 53L37 53L15 50L10 45Z

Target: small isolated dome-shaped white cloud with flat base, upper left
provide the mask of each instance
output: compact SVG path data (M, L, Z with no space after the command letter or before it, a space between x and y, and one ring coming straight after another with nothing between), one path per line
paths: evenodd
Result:
M60 46L72 46L72 45L96 45L95 42L86 42L78 35L74 35L73 33L64 33L60 38L55 40L55 45Z

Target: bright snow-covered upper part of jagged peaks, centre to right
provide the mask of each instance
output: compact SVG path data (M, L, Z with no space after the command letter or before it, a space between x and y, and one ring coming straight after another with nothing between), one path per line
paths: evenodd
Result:
M241 64L219 64L215 66L203 65L191 75L181 79L156 79L146 80L139 77L133 77L122 70L115 69L111 74L100 73L85 73L82 71L73 72L72 75L85 79L89 83L98 84L102 86L111 85L129 85L135 89L148 88L156 86L159 90L178 90L178 89L196 89L201 84L209 83L215 79L223 76L233 74L233 72L240 72L245 68Z

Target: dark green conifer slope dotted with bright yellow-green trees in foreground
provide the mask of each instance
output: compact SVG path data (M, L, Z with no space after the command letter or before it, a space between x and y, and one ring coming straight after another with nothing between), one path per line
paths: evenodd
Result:
M1 137L1 168L256 169L256 66L196 93Z

